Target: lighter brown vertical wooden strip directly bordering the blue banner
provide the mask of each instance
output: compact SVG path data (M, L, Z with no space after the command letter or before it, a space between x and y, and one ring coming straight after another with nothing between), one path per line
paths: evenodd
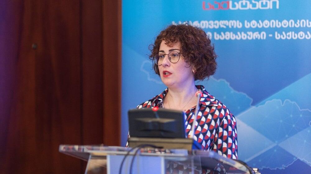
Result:
M121 0L103 0L103 39L104 144L120 145Z

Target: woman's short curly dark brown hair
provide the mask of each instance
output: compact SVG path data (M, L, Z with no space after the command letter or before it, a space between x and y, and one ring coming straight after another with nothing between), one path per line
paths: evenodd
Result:
M201 28L189 24L169 25L156 37L155 43L149 45L150 59L153 60L153 57L159 53L162 40L165 40L165 44L180 42L185 62L194 65L195 80L204 80L215 73L217 55L214 45L211 45L211 40ZM153 69L160 75L159 67L155 63Z

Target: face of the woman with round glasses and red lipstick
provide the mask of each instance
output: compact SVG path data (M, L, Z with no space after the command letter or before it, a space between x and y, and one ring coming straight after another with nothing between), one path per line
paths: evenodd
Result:
M180 53L180 43L170 43L167 45L165 40L162 40L159 54L169 54L172 51ZM180 88L185 83L194 82L192 66L184 61L183 54L179 54L179 56L179 61L172 63L169 61L168 55L165 55L162 65L158 66L161 80L167 87Z

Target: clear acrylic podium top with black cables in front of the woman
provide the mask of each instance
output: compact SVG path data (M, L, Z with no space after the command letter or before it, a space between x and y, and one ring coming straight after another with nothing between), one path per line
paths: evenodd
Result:
M62 144L59 152L87 161L85 174L252 173L213 151Z

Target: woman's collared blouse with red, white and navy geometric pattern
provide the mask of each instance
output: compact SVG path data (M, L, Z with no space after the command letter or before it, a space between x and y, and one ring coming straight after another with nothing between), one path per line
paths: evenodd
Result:
M200 110L195 123L193 139L201 144L204 150L214 150L227 158L238 159L238 141L236 120L229 109L209 94L204 86L196 85L201 89L203 97L200 98ZM163 98L168 88L161 94L137 106L140 108L163 108ZM186 135L189 136L196 106L185 113Z

